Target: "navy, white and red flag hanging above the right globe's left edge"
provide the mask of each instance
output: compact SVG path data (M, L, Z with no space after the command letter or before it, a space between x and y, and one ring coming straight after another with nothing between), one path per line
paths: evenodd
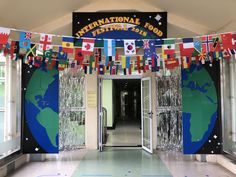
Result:
M183 38L183 43L179 44L181 56L192 56L194 52L193 38Z

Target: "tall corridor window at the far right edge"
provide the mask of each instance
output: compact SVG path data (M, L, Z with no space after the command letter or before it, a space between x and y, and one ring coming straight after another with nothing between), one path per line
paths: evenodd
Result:
M221 65L223 151L236 157L236 61L223 60Z

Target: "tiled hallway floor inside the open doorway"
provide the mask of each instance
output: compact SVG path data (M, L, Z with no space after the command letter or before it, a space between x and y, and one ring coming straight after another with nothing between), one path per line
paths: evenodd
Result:
M108 130L106 146L141 145L141 129L138 122L120 121L114 130Z

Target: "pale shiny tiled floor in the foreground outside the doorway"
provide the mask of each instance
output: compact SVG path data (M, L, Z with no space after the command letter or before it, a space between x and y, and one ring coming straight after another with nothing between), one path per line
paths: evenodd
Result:
M46 162L28 163L10 177L236 177L218 164L191 160L181 153L150 155L140 148L63 152Z

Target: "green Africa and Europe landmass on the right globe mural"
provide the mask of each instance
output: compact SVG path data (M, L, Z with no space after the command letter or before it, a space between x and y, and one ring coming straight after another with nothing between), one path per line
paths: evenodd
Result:
M183 80L183 112L191 114L190 133L192 142L195 142L203 138L212 115L217 111L217 94L205 68L195 69L187 75L188 79Z

